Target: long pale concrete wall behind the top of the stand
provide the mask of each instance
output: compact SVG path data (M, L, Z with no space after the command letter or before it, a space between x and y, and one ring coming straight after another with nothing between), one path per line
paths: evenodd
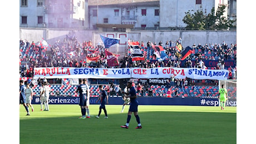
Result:
M179 38L182 39L183 47L192 46L194 43L204 45L205 43L221 44L223 41L230 45L237 43L237 31L209 31L209 30L132 30L129 33L115 33L115 32L97 32L93 30L73 30L73 29L28 29L20 28L19 35L21 39L27 39L29 42L39 42L42 38L46 39L48 43L54 44L56 40L63 40L67 35L75 34L78 42L84 40L91 40L94 46L99 42L102 44L100 35L111 38L120 38L120 44L115 44L110 47L110 52L120 54L121 57L126 54L127 40L143 41L146 44L149 40L158 44L160 40L165 45L166 41L172 40L175 42Z

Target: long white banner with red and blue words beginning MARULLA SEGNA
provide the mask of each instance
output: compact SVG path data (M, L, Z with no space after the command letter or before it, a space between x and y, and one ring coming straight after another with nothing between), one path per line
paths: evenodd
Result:
M170 78L178 79L214 79L227 80L228 70L208 70L198 68L35 68L34 78L94 78L94 79L125 79L125 78Z

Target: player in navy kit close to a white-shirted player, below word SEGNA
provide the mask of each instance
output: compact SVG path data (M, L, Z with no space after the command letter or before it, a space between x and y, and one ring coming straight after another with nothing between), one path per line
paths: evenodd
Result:
M82 116L79 117L78 119L86 119L85 114L86 114L86 101L87 97L90 95L89 94L89 86L86 84L86 79L80 79L80 85L76 89L76 92L79 92L79 105L81 106L81 113Z

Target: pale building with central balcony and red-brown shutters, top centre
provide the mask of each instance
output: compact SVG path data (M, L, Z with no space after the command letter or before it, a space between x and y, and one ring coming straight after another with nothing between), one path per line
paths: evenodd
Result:
M141 29L159 27L159 7L159 1L132 3L114 3L113 1L109 5L102 1L89 2L89 28L95 29L96 24L132 24L135 28Z

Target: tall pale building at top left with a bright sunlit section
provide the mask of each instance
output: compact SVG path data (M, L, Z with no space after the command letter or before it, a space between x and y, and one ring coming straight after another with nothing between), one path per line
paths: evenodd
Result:
M88 27L88 0L20 0L19 2L19 27Z

